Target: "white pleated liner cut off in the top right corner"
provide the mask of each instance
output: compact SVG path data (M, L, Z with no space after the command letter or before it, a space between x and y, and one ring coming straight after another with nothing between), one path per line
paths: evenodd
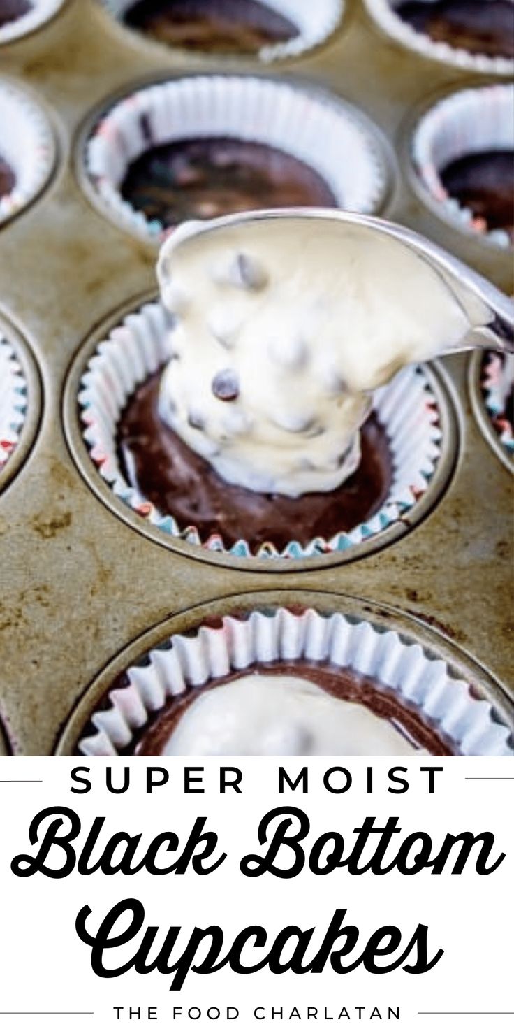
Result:
M436 42L426 33L418 32L396 12L400 0L364 0L364 2L371 16L389 36L424 57L487 75L512 75L514 72L514 61L510 58L471 54L470 50L451 46L450 43ZM427 0L427 3L430 2L431 0ZM482 2L487 3L487 0Z

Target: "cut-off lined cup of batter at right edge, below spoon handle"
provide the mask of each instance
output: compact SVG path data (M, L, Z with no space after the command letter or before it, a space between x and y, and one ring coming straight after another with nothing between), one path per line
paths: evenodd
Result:
M502 463L514 472L514 425L506 410L514 383L514 356L474 354L469 367L472 406L477 422Z

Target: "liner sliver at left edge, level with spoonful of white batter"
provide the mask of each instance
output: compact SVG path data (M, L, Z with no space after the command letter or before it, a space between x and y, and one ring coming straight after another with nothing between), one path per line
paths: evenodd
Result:
M40 399L34 359L21 334L0 314L0 492L29 453Z

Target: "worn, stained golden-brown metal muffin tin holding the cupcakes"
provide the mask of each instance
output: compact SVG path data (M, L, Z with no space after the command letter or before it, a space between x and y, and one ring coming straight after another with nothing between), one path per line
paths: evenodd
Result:
M280 591L281 603L308 603L316 591L320 604L361 614L369 609L375 620L383 616L400 631L410 627L420 642L472 669L473 684L499 708L511 709L512 476L470 405L465 355L442 362L456 423L444 495L428 502L413 531L382 538L380 549L360 554L356 547L342 564L221 563L198 547L171 549L116 517L77 466L70 394L79 350L121 310L156 291L154 246L103 216L82 189L76 168L83 127L132 84L235 68L266 74L255 60L169 51L123 29L94 0L69 0L39 32L2 47L1 74L38 93L52 111L59 141L45 192L0 230L1 327L15 325L16 339L29 342L44 397L38 426L31 372L28 424L38 432L28 459L29 442L14 452L12 461L16 453L25 461L0 495L0 711L15 753L52 753L60 739L63 752L75 731L63 737L65 723L71 718L80 729L77 718L98 699L98 683L107 688L123 661L161 639L168 619L186 627L211 605L222 612L233 607L234 595L257 591L259 605L262 592ZM383 215L512 291L511 254L436 217L412 186L404 150L411 112L426 98L483 82L483 76L402 48L357 0L325 46L273 63L272 74L322 85L361 107L397 153Z

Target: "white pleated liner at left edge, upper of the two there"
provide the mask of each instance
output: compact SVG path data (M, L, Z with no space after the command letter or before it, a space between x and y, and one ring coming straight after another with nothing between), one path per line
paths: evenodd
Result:
M24 90L0 79L0 156L14 175L0 197L0 224L26 207L46 182L56 156L48 119Z

